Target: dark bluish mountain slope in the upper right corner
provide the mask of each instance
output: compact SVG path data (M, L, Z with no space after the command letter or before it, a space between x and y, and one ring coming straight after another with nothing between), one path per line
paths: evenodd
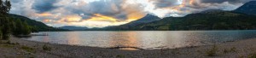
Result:
M234 11L238 12L238 13L243 13L243 14L256 15L256 1L250 1L248 3L245 3L240 8L238 8Z

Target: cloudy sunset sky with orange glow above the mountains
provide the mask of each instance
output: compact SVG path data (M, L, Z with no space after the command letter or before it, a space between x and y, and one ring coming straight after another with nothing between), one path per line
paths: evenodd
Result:
M48 26L118 26L154 14L160 18L207 9L233 10L251 0L10 0L11 14Z

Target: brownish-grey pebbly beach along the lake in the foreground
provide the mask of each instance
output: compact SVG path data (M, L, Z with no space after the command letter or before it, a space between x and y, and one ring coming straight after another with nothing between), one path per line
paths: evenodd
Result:
M256 38L215 45L150 50L46 44L14 37L10 38L10 42L11 44L7 44L6 41L1 41L0 58L248 58L256 56ZM43 49L44 45L50 50ZM215 49L212 50L214 46Z

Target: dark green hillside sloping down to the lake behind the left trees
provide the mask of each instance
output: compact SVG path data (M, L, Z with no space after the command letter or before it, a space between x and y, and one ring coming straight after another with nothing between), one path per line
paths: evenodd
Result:
M47 26L43 22L40 22L37 20L31 20L25 16L21 16L18 14L9 14L9 17L12 20L21 20L23 22L26 22L32 28L32 32L67 31L64 29Z

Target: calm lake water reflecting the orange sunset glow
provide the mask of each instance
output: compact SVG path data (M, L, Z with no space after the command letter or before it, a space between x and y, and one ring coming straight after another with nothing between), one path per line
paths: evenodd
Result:
M141 49L181 48L256 38L256 31L84 31L39 32L49 36L33 36L26 40L92 47L137 47Z

